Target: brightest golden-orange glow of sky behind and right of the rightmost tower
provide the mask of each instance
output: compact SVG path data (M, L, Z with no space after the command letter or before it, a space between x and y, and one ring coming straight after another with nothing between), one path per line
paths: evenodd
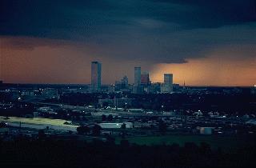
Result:
M188 59L183 64L158 64L151 71L153 82L162 82L163 74L174 74L174 83L188 86L254 86L256 58Z

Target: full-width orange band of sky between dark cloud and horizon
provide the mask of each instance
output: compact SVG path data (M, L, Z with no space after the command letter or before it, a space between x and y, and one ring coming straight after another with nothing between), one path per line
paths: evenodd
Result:
M256 50L228 47L190 58L182 64L140 63L122 58L91 54L91 46L42 38L0 37L0 78L14 83L90 83L90 62L102 62L102 83L110 84L124 75L134 82L134 66L150 71L152 82L162 82L163 74L174 74L174 83L190 86L254 86ZM80 45L80 46L79 46ZM241 46L242 48L242 46ZM100 50L100 49L99 49ZM242 56L241 56L242 55Z

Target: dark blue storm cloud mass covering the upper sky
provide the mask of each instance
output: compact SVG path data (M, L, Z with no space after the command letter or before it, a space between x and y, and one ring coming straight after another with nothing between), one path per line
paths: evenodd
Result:
M254 0L1 1L0 34L66 39L123 60L186 62L255 45Z

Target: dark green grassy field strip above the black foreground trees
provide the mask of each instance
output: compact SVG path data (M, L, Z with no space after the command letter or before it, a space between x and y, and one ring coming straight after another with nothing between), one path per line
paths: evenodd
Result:
M200 146L202 142L206 142L210 145L212 150L232 150L237 147L242 146L254 146L256 143L253 136L243 136L243 135L198 135L198 134L168 134L168 135L158 135L158 136L134 136L127 137L130 143L135 143L137 145L172 145L178 144L179 146L184 146L186 142L194 142L196 145ZM116 138L115 142L120 144L122 138Z

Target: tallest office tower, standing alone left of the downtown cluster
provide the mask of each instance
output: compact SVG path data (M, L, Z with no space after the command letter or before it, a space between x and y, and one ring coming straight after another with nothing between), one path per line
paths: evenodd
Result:
M102 85L102 64L91 62L91 90L99 90Z

